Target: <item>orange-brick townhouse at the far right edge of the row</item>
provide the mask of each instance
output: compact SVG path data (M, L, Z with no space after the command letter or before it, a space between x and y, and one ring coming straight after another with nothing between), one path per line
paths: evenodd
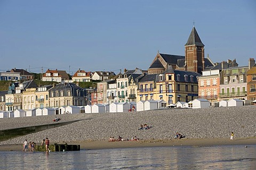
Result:
M250 58L250 68L247 71L247 99L253 101L256 100L256 64L252 59Z

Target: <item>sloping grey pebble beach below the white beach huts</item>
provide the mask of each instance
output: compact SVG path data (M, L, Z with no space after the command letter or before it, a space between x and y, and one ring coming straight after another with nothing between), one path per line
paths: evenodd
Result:
M0 118L0 130L53 124L55 115ZM0 142L0 145L21 144L25 139L41 143L46 137L51 143L107 141L118 135L124 139L136 136L140 140L172 140L176 132L185 139L227 139L256 137L256 106L210 107L201 109L167 108L154 111L65 114L61 122L79 120L58 128L31 133ZM152 128L138 130L140 124Z

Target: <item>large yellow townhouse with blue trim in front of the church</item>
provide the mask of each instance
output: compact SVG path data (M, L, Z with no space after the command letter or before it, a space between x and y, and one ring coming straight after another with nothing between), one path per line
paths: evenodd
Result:
M190 101L198 96L197 72L173 70L171 65L163 73L148 74L139 81L137 101L165 100L168 104Z

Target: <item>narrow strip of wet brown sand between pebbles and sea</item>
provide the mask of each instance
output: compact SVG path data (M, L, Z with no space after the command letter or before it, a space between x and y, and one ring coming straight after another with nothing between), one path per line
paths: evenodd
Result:
M62 144L62 143L58 143ZM217 139L152 139L138 141L80 141L68 142L69 145L80 145L81 150L117 149L117 148L141 148L141 147L207 147L226 145L256 145L256 138L217 138ZM0 151L21 151L22 145L0 145Z

